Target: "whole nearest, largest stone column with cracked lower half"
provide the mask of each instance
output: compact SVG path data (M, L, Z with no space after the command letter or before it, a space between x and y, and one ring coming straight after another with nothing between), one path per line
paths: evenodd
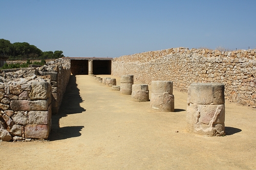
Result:
M208 136L225 135L224 84L193 83L188 87L187 131Z

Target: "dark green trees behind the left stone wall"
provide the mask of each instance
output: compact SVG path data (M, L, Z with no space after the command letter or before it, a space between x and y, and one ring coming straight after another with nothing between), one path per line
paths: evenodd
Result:
M9 60L27 59L57 59L65 57L62 51L42 52L35 45L28 42L14 42L0 39L0 57L8 57Z

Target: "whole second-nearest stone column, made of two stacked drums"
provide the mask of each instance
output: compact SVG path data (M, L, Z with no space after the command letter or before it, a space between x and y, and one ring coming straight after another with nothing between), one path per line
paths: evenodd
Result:
M150 107L156 111L174 112L172 81L152 81Z

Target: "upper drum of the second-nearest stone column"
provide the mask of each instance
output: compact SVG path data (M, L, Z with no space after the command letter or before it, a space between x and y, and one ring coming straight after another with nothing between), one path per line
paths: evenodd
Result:
M152 93L169 93L173 94L173 82L172 81L152 81L151 84Z

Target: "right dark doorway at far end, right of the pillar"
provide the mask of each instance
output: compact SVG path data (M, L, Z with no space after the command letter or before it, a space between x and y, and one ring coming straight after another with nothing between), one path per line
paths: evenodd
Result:
M111 75L111 60L93 60L94 75Z

